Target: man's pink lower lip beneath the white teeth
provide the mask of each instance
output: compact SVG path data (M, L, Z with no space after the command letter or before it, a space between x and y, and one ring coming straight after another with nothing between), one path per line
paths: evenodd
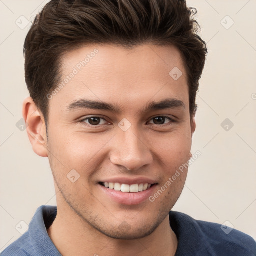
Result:
M115 191L114 189L107 188L100 184L98 185L103 190L103 192L107 196L112 198L115 202L126 204L126 205L135 205L147 200L150 197L150 195L153 193L154 188L156 187L156 184L154 184L150 188L146 189L145 191L131 193L131 192Z

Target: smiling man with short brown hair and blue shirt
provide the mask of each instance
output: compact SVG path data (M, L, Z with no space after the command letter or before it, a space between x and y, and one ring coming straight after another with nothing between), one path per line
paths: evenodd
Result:
M41 206L2 255L256 255L171 211L183 189L207 49L184 0L52 0L24 44L23 117L48 157Z

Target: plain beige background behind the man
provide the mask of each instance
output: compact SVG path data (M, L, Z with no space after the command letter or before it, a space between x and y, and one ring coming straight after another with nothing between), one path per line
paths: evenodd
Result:
M48 158L36 155L26 131L16 127L28 96L23 43L30 24L19 26L33 20L46 2L0 0L0 251L25 231L38 206L55 205ZM192 147L192 153L202 154L190 166L174 210L229 221L256 239L256 0L188 4L198 9L209 53ZM221 126L226 118L234 124L228 131Z

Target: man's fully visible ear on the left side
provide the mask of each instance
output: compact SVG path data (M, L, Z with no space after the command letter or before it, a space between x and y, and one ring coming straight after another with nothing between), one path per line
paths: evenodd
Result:
M32 148L42 157L48 156L46 126L42 113L37 109L33 99L27 97L23 101L23 118L26 122L26 131Z

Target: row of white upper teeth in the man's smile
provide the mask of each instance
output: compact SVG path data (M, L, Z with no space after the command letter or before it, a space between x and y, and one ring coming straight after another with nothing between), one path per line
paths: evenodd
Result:
M122 191L122 192L131 192L131 193L137 193L141 191L145 191L148 189L151 184L149 183L140 183L140 184L120 184L118 182L112 183L112 182L103 182L103 185L107 188L114 189L115 191Z

